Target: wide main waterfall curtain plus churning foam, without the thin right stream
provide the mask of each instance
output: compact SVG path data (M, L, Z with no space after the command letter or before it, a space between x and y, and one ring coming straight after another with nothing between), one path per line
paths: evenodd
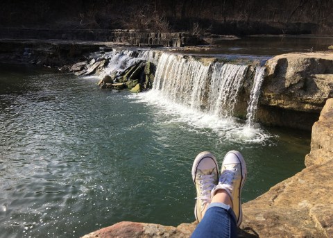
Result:
M164 52L157 63L153 89L134 97L176 115L171 121L186 123L198 133L210 128L235 142L263 142L268 135L234 119L248 68Z

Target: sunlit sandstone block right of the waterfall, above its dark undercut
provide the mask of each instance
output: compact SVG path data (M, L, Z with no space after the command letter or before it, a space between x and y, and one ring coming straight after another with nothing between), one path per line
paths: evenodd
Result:
M333 53L287 53L266 68L262 105L319 113L333 96Z

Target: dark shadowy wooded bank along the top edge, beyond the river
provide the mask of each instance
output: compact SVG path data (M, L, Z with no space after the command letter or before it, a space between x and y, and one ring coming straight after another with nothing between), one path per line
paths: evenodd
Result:
M2 0L0 26L327 34L332 9L332 0Z

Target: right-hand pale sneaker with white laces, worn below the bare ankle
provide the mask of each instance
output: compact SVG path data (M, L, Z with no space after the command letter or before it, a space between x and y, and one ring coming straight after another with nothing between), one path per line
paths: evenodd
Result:
M232 210L236 215L237 226L241 225L241 189L246 180L246 163L238 151L229 151L222 162L219 184L214 187L212 197L218 189L225 189L232 201Z

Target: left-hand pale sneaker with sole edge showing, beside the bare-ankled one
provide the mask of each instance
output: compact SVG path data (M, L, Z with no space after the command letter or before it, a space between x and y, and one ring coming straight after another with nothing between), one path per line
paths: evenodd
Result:
M196 206L194 215L197 221L203 219L203 210L211 199L212 189L219 182L219 167L212 153L204 151L196 156L192 167L192 179L196 185Z

